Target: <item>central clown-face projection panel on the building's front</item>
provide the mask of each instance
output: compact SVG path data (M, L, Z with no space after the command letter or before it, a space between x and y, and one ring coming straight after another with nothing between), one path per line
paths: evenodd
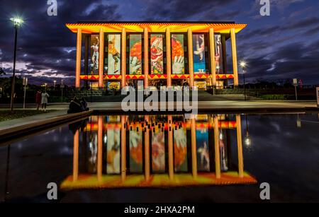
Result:
M163 74L163 35L150 35L151 74Z

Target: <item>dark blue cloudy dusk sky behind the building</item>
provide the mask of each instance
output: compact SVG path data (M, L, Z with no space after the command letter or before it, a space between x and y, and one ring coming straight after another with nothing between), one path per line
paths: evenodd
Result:
M237 35L238 59L249 63L250 81L301 78L319 84L319 1L270 0L271 16L259 15L259 0L57 0L57 16L47 16L47 0L1 0L0 67L9 72L13 28L18 35L18 72L31 83L74 83L76 35L65 23L78 20L234 20L248 27ZM228 42L228 54L230 54ZM228 56L230 58L230 56ZM228 61L231 64L231 61ZM231 69L231 68L229 68ZM241 79L241 77L240 77Z

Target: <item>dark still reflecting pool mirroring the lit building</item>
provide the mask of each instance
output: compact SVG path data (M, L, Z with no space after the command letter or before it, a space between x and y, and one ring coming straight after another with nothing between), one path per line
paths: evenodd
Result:
M319 201L319 115L94 115L0 145L1 201Z

